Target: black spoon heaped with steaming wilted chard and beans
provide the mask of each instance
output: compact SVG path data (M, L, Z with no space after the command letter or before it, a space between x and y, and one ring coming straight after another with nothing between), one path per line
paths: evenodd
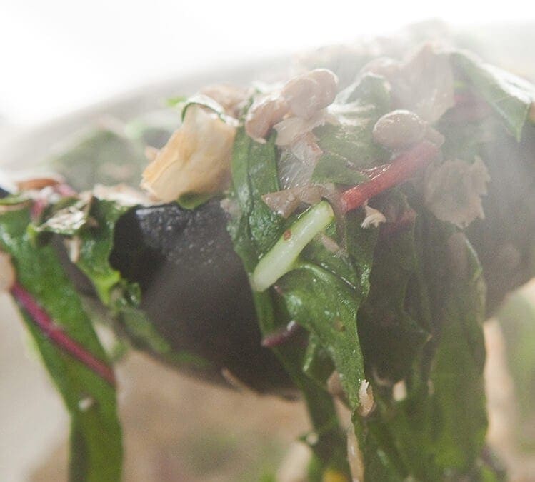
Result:
M298 389L312 480L500 480L485 445L481 323L533 274L534 194L516 199L514 186L535 178L535 88L431 45L338 82L312 69L182 101L181 126L144 170L151 201L61 182L4 199L11 293L91 459L79 478L117 478L120 433L109 360L58 239L76 246L85 281L63 258L71 278L89 280L134 346L212 380ZM525 222L504 230L511 216ZM526 261L514 281L492 272L513 241ZM74 392L96 403L81 411ZM94 427L115 456L106 468Z

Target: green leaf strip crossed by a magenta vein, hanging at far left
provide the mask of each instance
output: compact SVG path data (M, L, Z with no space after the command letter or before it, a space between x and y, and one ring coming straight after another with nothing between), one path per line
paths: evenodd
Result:
M27 233L29 222L27 209L0 216L0 246L11 255L19 283L46 308L54 323L96 358L107 363L91 320L54 249L51 246L34 247ZM61 351L26 313L23 315L71 415L71 480L118 481L121 478L122 443L114 387Z

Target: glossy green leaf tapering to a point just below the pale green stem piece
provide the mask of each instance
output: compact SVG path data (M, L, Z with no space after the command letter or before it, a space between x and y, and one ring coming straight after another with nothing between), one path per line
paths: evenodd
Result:
M355 410L364 381L357 311L369 290L376 229L363 229L361 214L346 216L347 253L334 256L320 241L303 252L296 269L278 283L292 319L307 328L331 357ZM334 234L334 225L326 230Z

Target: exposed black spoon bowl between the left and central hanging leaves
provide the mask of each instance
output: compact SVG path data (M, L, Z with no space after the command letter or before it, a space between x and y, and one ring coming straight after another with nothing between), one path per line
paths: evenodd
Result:
M210 363L181 368L209 381L291 396L289 376L261 346L249 281L226 224L216 199L194 210L174 203L140 207L116 224L110 261L139 283L141 308L171 348ZM96 296L63 243L56 246L79 291Z

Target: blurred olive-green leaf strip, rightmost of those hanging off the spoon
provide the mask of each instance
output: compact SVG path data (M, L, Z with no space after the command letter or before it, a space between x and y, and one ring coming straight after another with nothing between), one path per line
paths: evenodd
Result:
M452 234L446 244L446 262L452 269L444 280L441 335L429 376L431 401L435 413L440 413L435 415L434 426L436 463L444 469L466 471L480 455L486 433L485 287L479 261L464 235ZM463 403L459 403L459 395Z

